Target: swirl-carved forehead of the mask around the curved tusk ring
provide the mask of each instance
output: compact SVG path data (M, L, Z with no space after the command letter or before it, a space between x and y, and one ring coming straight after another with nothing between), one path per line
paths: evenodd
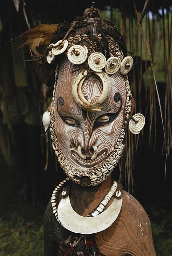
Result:
M76 66L69 62L68 59L61 65L56 92L55 101L57 103L58 111L62 114L69 115L70 113L81 111L81 108L73 99L72 84L74 78L83 69L81 66ZM102 104L103 111L113 113L119 107L120 98L125 100L125 83L123 76L117 72L110 75L112 84L111 94L108 99ZM91 73L82 85L82 92L84 97L91 103L97 101L102 92L102 82L97 75ZM103 114L103 111L100 111ZM99 113L100 114L100 113Z

